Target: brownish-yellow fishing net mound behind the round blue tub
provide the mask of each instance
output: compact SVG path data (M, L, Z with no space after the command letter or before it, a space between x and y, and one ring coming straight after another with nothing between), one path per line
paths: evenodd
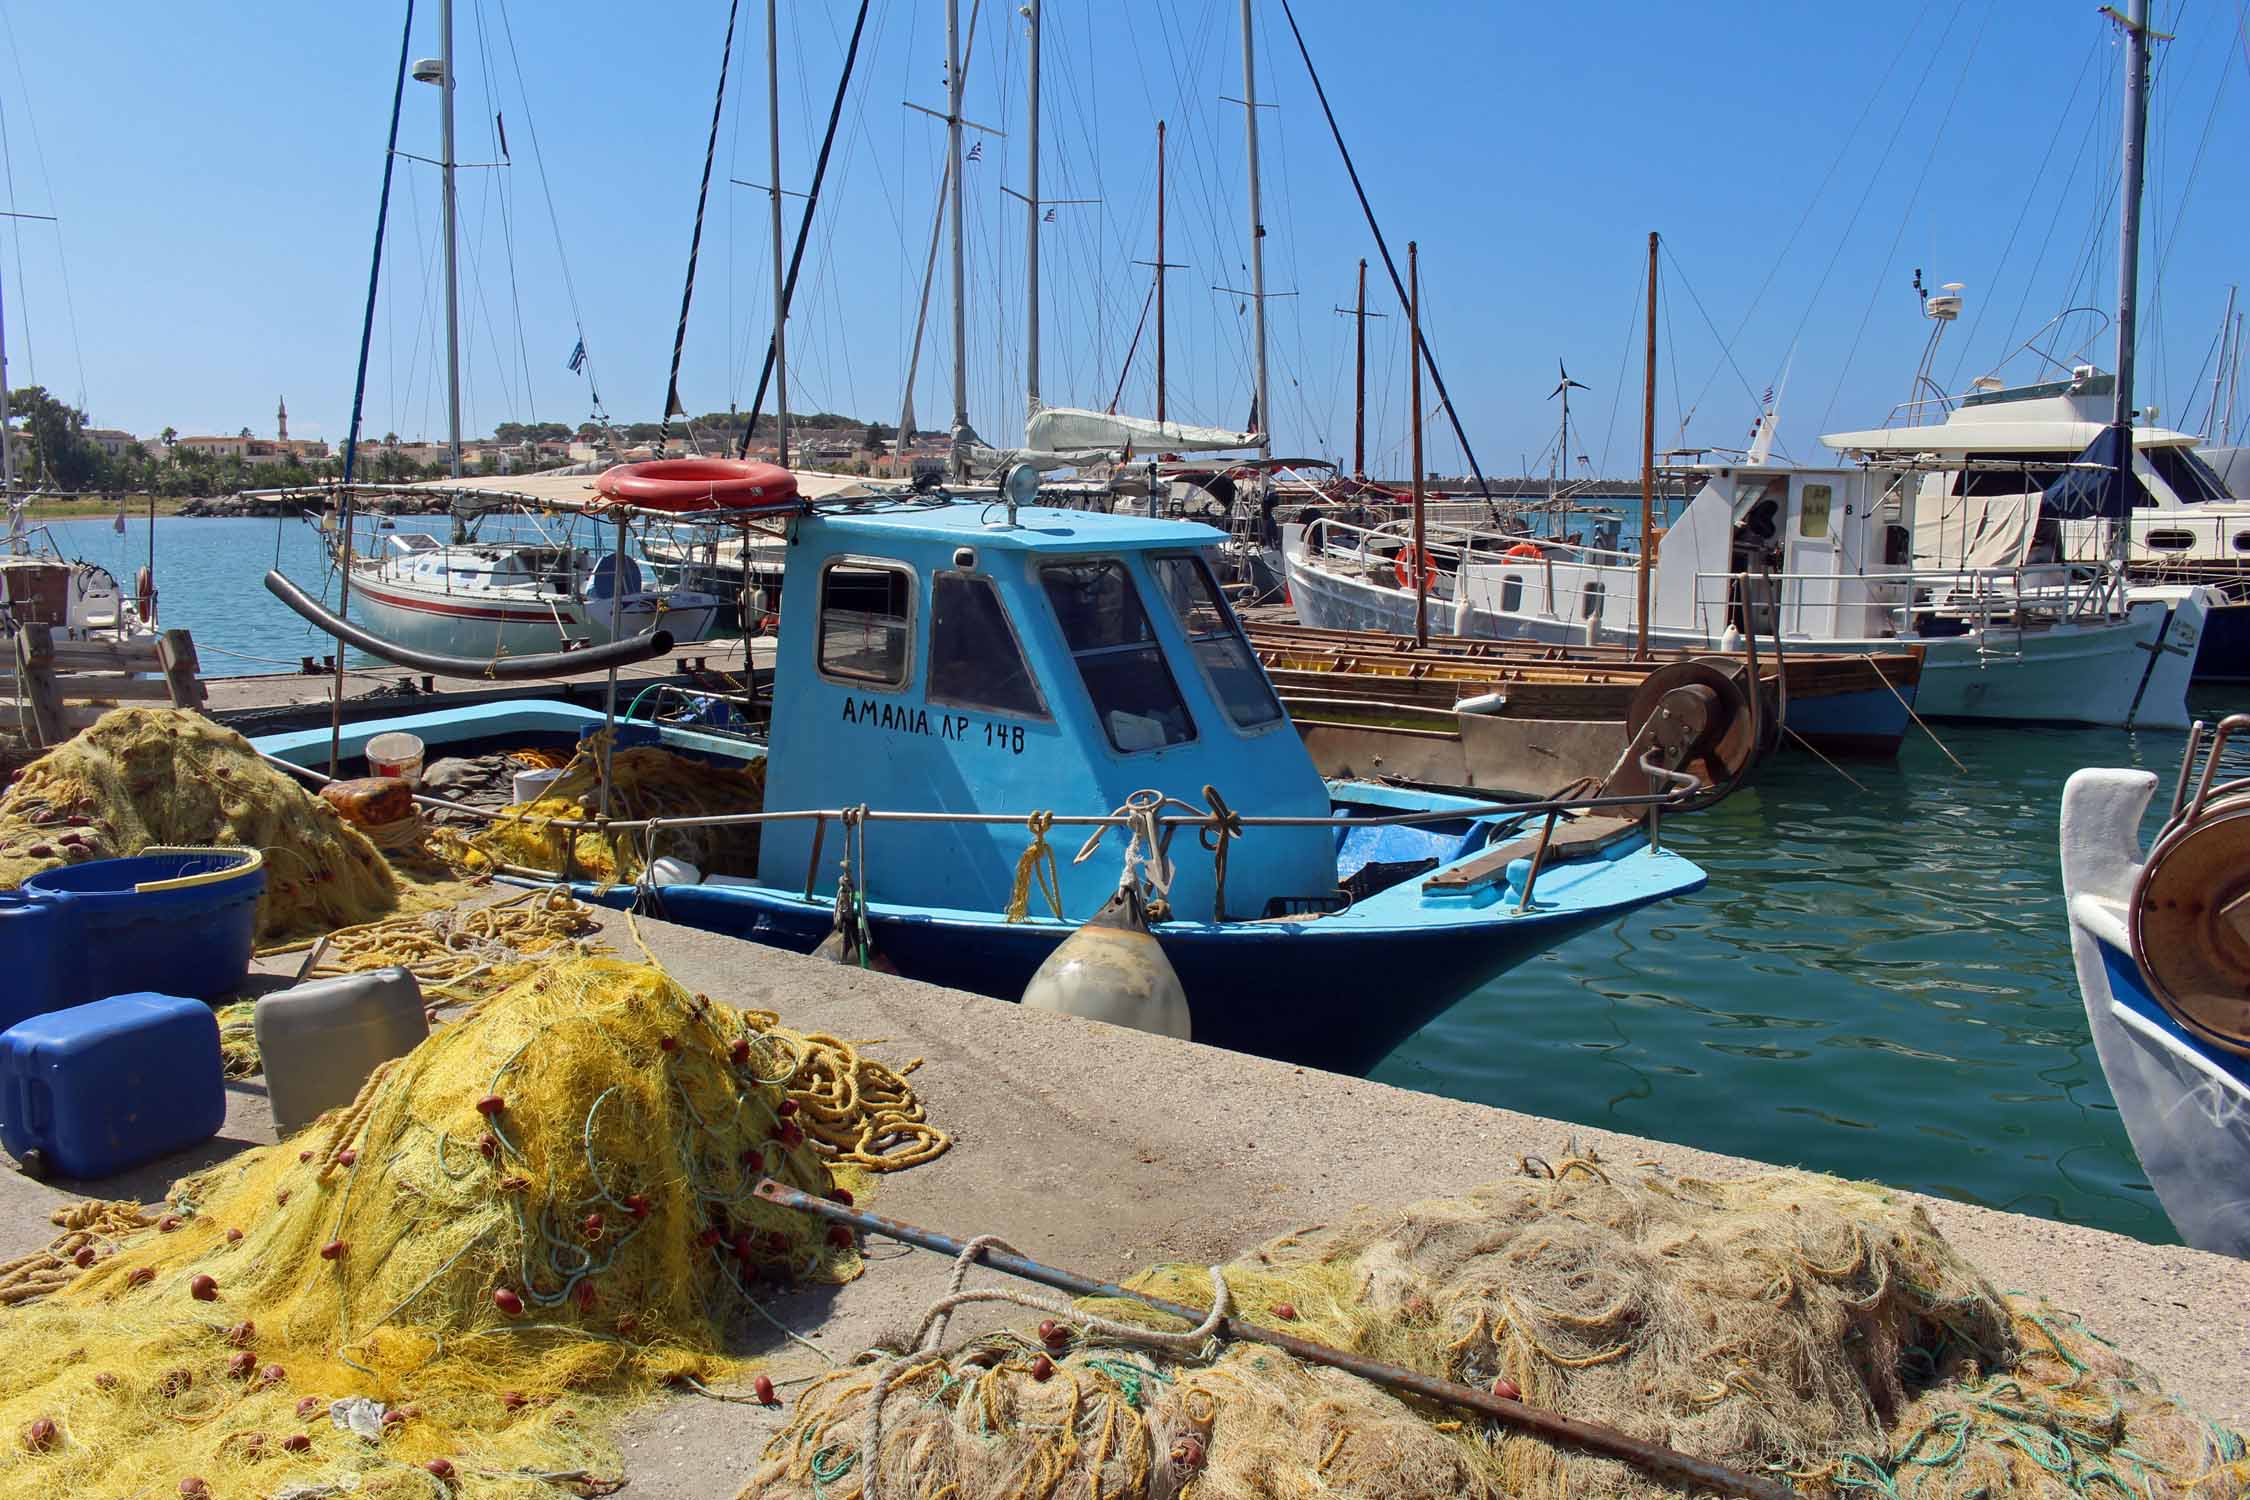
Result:
M261 940L398 906L392 868L356 828L250 740L187 708L112 708L0 798L0 888L151 846L266 850Z

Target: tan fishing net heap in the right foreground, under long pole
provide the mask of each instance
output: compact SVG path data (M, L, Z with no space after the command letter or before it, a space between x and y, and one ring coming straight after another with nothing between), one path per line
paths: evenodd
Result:
M1514 1385L1530 1406L1809 1496L2250 1493L2239 1437L2068 1313L1994 1293L1919 1210L1834 1178L1703 1183L1570 1158L1462 1199L1359 1210L1222 1277L1249 1322ZM1206 1307L1213 1273L1159 1266L1132 1286ZM824 1376L742 1496L1681 1493L1264 1345L1150 1347L1118 1325L1181 1325L1143 1304L1080 1302L1055 1322Z

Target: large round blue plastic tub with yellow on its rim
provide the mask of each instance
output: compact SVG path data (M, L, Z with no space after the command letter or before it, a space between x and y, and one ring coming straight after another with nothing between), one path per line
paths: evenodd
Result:
M153 990L216 999L250 974L266 895L256 850L158 850L40 870L0 893L0 1028Z

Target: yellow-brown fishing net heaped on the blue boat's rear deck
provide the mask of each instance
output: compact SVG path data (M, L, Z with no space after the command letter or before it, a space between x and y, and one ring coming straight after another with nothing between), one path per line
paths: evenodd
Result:
M608 731L603 731L608 733ZM556 828L558 821L592 821L601 810L601 744L590 735L562 774L536 803L511 807L470 834L454 859L470 870L518 866L572 879L630 882L662 855L686 859L706 875L756 875L758 825L666 828L650 841L644 832ZM691 819L765 807L765 758L713 765L675 756L652 744L610 756L610 816L621 821ZM569 868L565 870L565 855Z

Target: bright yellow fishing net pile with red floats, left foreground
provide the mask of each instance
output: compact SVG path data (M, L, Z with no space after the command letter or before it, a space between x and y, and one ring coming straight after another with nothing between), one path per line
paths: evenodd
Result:
M801 1064L657 967L542 969L155 1228L58 1244L90 1268L0 1311L0 1493L605 1493L626 1401L731 1372L763 1289L860 1268L752 1196L837 1192Z

